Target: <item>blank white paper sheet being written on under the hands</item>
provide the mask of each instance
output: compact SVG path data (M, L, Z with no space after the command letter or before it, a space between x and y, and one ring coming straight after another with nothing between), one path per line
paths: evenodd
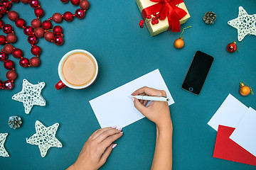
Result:
M156 69L90 101L100 127L106 128L116 125L118 128L124 128L144 118L144 115L134 107L132 98L128 97L143 86L166 91L167 97L170 98L168 104L174 103L159 69Z

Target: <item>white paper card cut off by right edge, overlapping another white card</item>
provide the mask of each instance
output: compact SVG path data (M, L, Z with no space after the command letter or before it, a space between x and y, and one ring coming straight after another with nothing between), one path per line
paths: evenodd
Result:
M256 111L249 108L230 139L256 157Z

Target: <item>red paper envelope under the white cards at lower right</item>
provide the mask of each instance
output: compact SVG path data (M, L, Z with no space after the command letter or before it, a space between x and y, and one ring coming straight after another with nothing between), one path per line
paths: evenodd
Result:
M230 140L235 128L219 125L213 157L256 166L256 157Z

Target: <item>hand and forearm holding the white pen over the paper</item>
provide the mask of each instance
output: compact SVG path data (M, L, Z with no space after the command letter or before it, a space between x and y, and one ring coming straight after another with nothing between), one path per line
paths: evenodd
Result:
M166 96L165 91L142 87L134 91L132 96ZM149 120L156 123L156 149L151 170L170 170L172 166L172 132L171 115L166 101L148 101L133 98L134 106Z

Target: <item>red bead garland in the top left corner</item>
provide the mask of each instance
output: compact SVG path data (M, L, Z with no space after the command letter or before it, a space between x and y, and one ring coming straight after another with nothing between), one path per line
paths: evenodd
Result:
M9 11L12 3L18 3L21 1L23 4L29 4L32 8L34 8L34 13L36 18L31 21L31 26L26 25L26 21L23 18L19 18L18 13L16 11ZM63 3L68 3L68 0L60 0ZM53 13L53 16L48 18L48 20L41 21L39 20L43 15L43 8L40 6L40 2L38 0L2 0L0 3L0 18L7 13L7 17L10 21L14 21L16 27L22 28L23 33L28 35L28 43L31 44L31 53L36 57L31 57L30 60L23 57L22 50L14 47L9 43L15 43L17 41L17 37L14 33L14 28L9 24L4 24L0 19L0 28L7 35L0 35L0 45L4 45L4 48L1 49L0 52L0 61L4 62L4 67L6 69L10 69L9 72L6 73L6 78L8 80L2 82L0 81L0 89L11 90L14 88L14 80L17 78L17 74L14 69L14 62L8 60L8 55L12 54L15 58L19 59L19 64L21 67L38 67L41 63L39 59L39 55L41 54L41 47L37 44L38 38L45 38L49 42L54 42L56 45L63 45L63 28L60 26L54 26L51 21L55 23L60 23L63 21L73 21L73 18L85 18L85 12L90 7L90 3L87 0L70 0L71 4L74 6L80 6L75 13L71 13L67 11L65 13ZM53 28L53 32L50 29Z

